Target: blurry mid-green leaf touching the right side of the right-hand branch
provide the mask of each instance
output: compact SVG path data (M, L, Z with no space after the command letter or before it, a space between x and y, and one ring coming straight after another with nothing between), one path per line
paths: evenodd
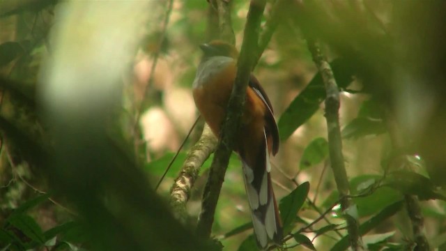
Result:
M345 139L356 139L366 135L380 135L386 132L385 123L382 119L371 119L369 117L357 117L342 129L342 137Z

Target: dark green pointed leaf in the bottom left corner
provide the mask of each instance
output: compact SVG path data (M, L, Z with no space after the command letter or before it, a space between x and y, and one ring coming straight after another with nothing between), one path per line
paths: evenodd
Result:
M22 233L32 241L36 241L40 244L45 243L45 236L43 235L42 229L31 216L26 214L13 214L7 221L10 225L13 225L22 231Z

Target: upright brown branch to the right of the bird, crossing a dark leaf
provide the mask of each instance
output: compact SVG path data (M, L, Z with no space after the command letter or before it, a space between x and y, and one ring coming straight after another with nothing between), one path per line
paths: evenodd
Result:
M308 40L308 48L312 53L313 61L322 75L327 97L325 98L325 119L328 128L328 149L330 153L330 166L334 174L342 211L350 206L350 193L347 172L342 155L341 130L339 127L339 89L334 79L333 71L321 53L320 48L314 40ZM353 250L364 250L360 236L358 222L353 215L346 215L347 229L351 248Z

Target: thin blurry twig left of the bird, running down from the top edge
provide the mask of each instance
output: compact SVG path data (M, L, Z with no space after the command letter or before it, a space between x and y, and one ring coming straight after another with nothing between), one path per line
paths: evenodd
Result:
M164 38L166 37L166 31L167 31L167 24L169 24L170 15L172 12L172 8L174 7L174 0L169 0L167 3L167 10L166 15L164 16L164 22L162 23L161 28L161 34L160 34L160 40L158 41L158 48L161 48L162 43L164 43ZM141 132L139 131L139 118L141 117L142 108L144 104L144 99L147 96L148 90L153 88L153 81L155 79L155 70L158 63L158 58L160 57L160 49L156 50L153 53L153 61L151 66L151 75L148 77L148 82L146 86L144 87L144 91L142 94L142 100L139 102L139 105L137 105L137 109L135 110L135 116L134 116L134 124L133 124L133 134L134 134L134 154L138 156L139 153L139 142L137 139L139 139L139 136ZM136 158L138 160L139 158Z

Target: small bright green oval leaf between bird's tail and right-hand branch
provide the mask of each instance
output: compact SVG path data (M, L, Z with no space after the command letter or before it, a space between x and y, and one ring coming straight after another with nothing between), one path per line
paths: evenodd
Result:
M328 142L323 137L313 139L304 149L300 159L300 170L319 164L328 156Z

